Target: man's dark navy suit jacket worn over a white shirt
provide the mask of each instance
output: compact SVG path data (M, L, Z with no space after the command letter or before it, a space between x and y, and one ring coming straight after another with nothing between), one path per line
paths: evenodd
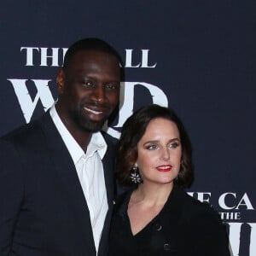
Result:
M103 162L113 208L113 147ZM90 213L73 160L49 113L0 139L0 255L95 256Z

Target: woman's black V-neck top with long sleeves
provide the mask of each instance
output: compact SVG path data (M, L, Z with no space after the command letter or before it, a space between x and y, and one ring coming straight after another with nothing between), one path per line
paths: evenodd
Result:
M132 236L127 216L130 196L128 191L116 201L109 256L230 256L224 225L208 204L174 187L160 214Z

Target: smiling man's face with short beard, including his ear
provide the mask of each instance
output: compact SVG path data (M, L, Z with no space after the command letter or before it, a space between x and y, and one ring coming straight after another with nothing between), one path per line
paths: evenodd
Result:
M73 55L57 76L57 110L67 128L100 131L119 102L119 84L115 56L96 50Z

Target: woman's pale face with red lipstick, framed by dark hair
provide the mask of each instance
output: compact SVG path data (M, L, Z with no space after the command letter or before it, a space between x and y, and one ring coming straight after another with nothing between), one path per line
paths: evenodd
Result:
M143 183L171 183L177 177L182 146L177 125L168 119L157 118L137 144L137 166Z

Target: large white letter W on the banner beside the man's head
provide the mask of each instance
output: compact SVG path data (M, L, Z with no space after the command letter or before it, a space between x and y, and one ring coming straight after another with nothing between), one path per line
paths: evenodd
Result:
M26 119L26 123L28 123L32 118L32 113L34 112L39 99L43 104L44 111L46 111L54 103L54 98L49 90L48 85L50 80L32 79L38 90L33 101L29 91L26 88L26 82L28 81L27 79L7 80L9 80L14 86L15 94L20 103L20 108L23 112L24 118Z

